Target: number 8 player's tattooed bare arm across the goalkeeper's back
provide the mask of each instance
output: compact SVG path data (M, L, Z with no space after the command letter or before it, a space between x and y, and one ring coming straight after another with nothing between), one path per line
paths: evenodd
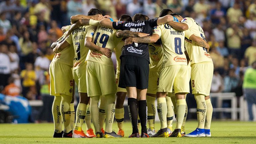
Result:
M152 36L140 37L140 38L127 38L124 41L125 45L129 45L132 43L155 43L158 39L160 39L159 35L153 34Z

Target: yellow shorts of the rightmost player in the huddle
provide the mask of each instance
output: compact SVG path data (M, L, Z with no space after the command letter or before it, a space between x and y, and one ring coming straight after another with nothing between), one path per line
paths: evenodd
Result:
M191 65L192 94L208 96L211 90L213 63L197 63Z

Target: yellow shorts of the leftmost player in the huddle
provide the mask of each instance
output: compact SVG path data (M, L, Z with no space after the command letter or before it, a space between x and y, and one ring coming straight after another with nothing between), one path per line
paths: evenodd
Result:
M66 94L72 96L73 76L71 66L58 62L50 64L50 95L60 96Z

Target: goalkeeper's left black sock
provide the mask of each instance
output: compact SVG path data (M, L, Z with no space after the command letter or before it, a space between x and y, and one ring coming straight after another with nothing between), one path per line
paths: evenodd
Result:
M137 99L135 98L128 98L128 111L130 120L132 123L132 133L138 133L138 126L137 126L137 120L138 120L138 110L137 110Z

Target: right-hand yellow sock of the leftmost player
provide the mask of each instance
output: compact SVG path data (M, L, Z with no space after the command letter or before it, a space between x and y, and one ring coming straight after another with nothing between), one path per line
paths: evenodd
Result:
M64 125L64 132L68 133L70 132L71 126L70 126L70 117L71 117L71 111L70 111L70 102L72 100L72 97L69 95L61 95L61 116L63 120Z

